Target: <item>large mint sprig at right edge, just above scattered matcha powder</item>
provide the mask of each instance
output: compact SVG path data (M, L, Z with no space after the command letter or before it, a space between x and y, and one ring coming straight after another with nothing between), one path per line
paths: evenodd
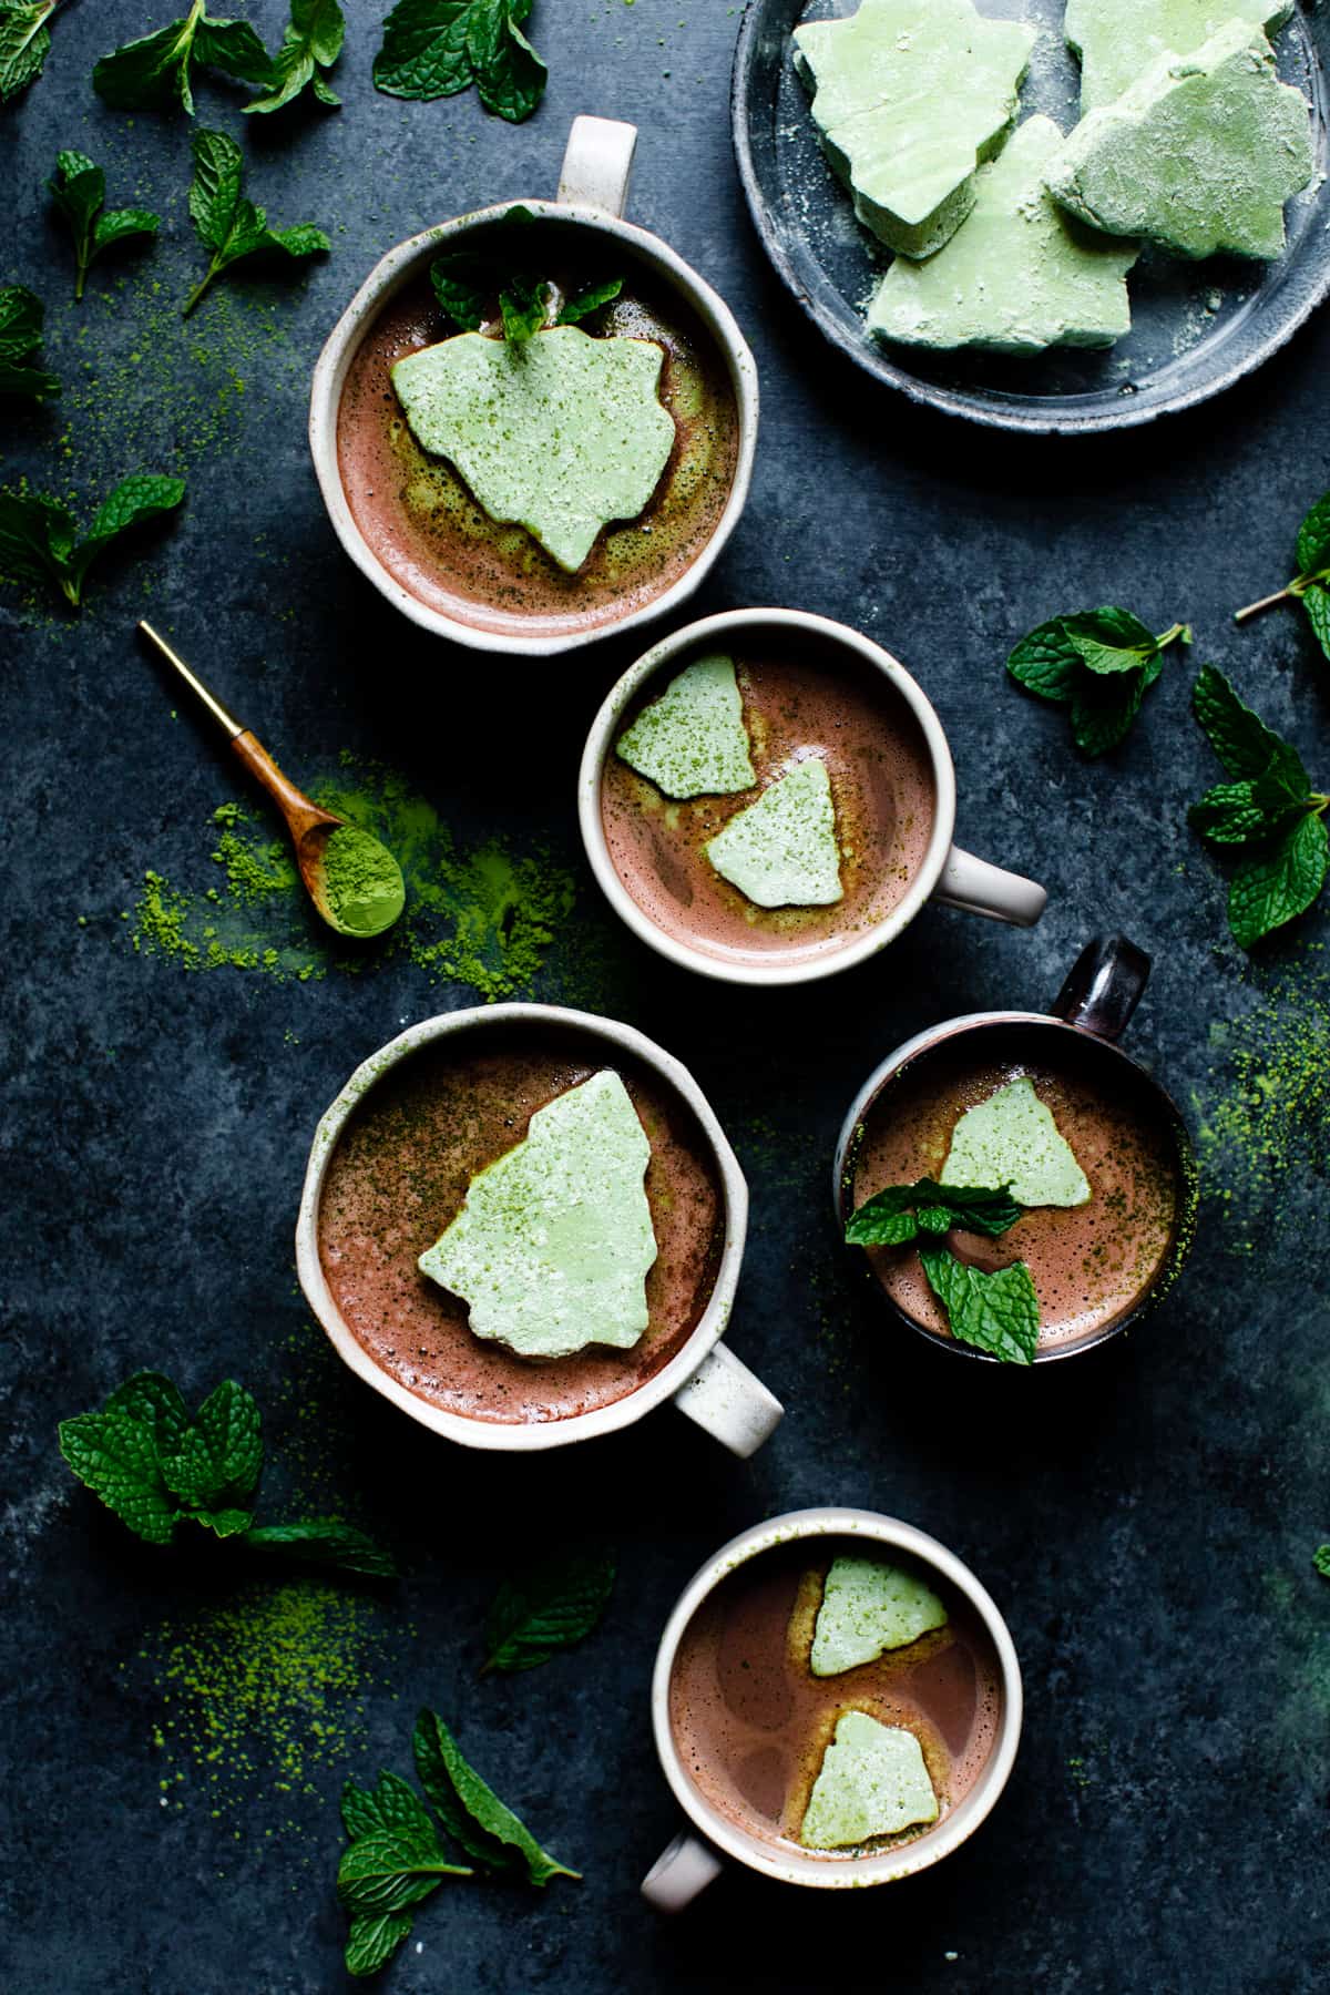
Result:
M1228 928L1250 950L1312 906L1330 868L1326 808L1302 756L1252 712L1212 664L1200 668L1192 708L1228 774L1188 810L1210 846L1238 850L1228 884Z

